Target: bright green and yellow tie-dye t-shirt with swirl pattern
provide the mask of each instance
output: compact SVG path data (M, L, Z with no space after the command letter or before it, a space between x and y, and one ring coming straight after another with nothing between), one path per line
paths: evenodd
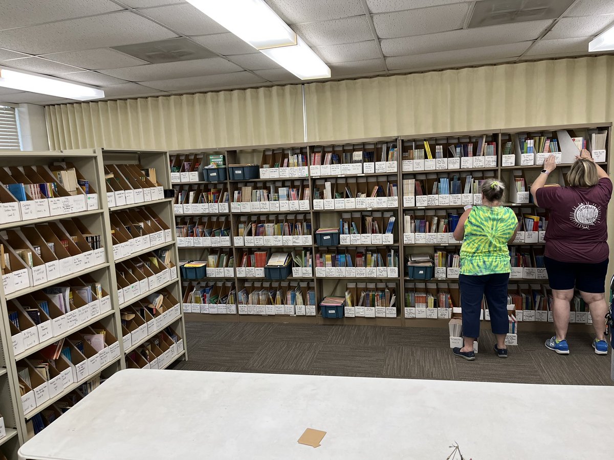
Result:
M509 273L507 242L517 225L518 219L508 207L474 206L465 222L461 274Z

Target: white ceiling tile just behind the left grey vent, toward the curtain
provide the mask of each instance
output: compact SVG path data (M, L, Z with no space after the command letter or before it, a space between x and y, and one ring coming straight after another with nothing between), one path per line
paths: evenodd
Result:
M169 80L201 75L228 74L239 72L235 66L224 58L193 59L175 63L147 64L146 66L124 67L123 69L103 69L100 72L131 82L143 80Z

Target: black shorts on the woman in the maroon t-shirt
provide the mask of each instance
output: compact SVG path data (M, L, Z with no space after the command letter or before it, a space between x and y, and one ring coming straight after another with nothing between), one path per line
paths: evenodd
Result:
M550 288L557 291L577 288L585 293L605 293L605 276L608 262L605 259L597 264L580 262L559 262L549 257L544 258Z

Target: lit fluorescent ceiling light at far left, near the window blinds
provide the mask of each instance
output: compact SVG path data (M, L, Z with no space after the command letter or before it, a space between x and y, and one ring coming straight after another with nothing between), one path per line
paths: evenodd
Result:
M49 94L58 98L76 99L77 101L104 98L104 91L98 88L29 72L14 71L4 67L0 68L0 86L13 90L29 91L30 93Z

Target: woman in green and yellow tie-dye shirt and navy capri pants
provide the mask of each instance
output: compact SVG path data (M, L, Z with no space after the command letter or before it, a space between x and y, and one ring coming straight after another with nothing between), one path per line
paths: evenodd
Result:
M508 332L507 283L510 278L510 252L518 219L508 207L501 205L505 184L487 179L481 184L482 205L465 211L454 230L461 247L461 308L464 347L454 348L454 355L473 361L473 341L480 335L482 299L491 315L491 328L497 343L495 353L507 358L505 334Z

